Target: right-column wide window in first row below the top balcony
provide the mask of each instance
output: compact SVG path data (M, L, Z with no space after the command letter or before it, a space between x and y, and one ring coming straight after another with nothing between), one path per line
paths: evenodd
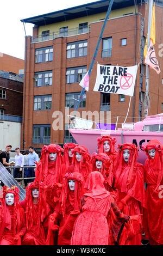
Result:
M67 44L67 59L87 55L87 41L71 42Z

